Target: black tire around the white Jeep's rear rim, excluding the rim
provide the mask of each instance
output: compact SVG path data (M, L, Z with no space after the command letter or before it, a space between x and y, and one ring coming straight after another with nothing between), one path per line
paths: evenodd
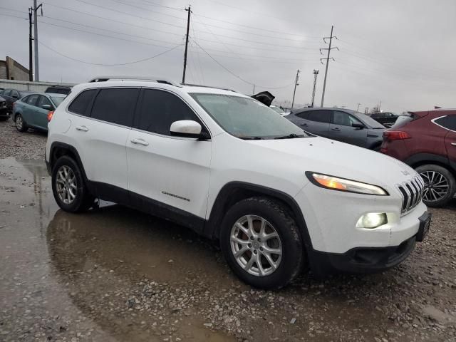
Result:
M71 204L63 203L57 194L56 175L58 169L60 169L60 167L62 167L63 165L70 167L76 177L76 198L73 200L73 202L71 202ZM52 169L52 192L58 206L66 212L80 212L81 210L86 209L87 191L88 190L86 189L86 185L84 184L83 175L78 164L71 157L63 156L58 158L56 164L53 166Z

